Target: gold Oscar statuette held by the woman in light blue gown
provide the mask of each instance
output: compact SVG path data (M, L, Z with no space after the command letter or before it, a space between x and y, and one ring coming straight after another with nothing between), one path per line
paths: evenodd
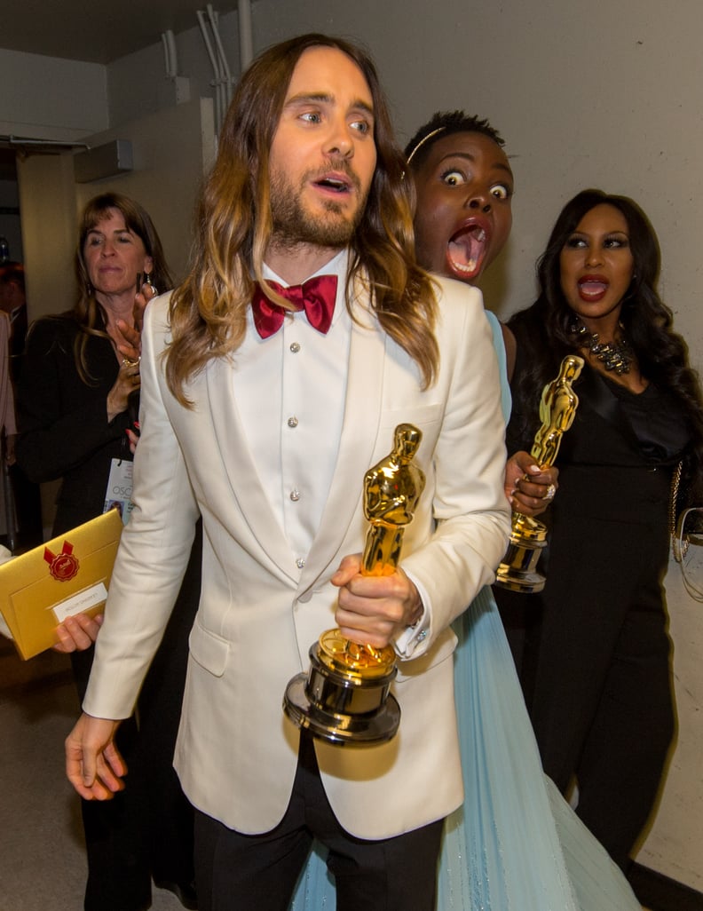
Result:
M559 367L559 375L547 383L539 403L542 425L535 434L530 454L541 468L554 465L562 436L574 423L578 396L572 384L584 366L577 354L567 354ZM545 577L535 567L546 546L547 529L544 523L513 513L510 543L503 562L496 572L495 584L502 589L530 593L545 588Z

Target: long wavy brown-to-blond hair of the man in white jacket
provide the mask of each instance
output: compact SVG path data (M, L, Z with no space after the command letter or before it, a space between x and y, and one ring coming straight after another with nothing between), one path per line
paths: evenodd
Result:
M351 241L347 300L356 277L368 277L372 309L382 328L418 364L425 385L436 373L433 282L415 263L412 181L402 179L404 159L393 139L376 69L359 47L311 34L261 54L241 77L229 106L218 158L200 194L192 269L170 304L166 375L171 392L186 406L188 380L211 359L234 353L244 338L253 283L263 281L272 232L271 143L293 70L314 47L349 56L372 94L377 164Z

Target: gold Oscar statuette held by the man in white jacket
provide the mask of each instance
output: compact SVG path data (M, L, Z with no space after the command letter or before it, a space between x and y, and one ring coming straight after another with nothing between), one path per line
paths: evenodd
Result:
M369 528L362 576L388 576L397 568L402 535L424 487L413 463L423 437L412 424L400 424L393 448L363 479L363 511ZM283 710L299 727L329 743L368 746L392 739L401 709L390 692L396 675L395 652L352 642L340 630L326 630L310 648L307 674L294 677Z

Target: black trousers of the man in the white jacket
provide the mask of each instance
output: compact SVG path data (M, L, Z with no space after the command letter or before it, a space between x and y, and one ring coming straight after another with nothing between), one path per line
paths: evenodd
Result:
M330 852L337 911L433 911L442 829L440 820L381 841L345 832L322 787L311 739L303 734L290 804L271 832L242 835L196 811L199 909L286 911L315 837Z

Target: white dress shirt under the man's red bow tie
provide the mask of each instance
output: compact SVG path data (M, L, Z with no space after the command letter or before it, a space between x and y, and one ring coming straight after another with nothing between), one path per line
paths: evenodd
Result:
M326 335L313 329L301 311L287 314L277 333L261 339L250 310L247 335L235 356L234 382L248 389L239 399L242 424L299 569L320 524L341 436L352 334L345 294L348 259L348 251L341 251L314 273L337 276ZM265 264L263 274L288 286Z

